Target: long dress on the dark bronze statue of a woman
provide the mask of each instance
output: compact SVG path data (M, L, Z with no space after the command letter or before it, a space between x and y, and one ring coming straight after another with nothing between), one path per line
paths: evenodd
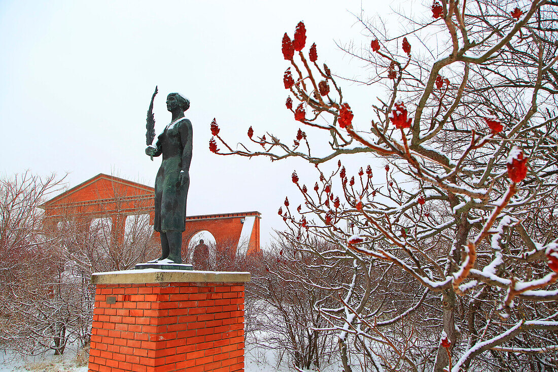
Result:
M162 152L161 168L155 179L155 231L184 231L186 219L186 198L190 177L185 170L187 181L180 184L179 173L182 162L190 166L192 158L192 124L181 118L170 123L157 137L157 154ZM184 148L190 151L184 151Z

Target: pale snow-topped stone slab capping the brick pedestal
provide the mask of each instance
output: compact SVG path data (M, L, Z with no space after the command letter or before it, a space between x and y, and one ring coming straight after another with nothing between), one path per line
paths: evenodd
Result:
M93 284L137 284L137 283L246 283L250 273L229 271L185 271L185 270L122 270L94 273Z

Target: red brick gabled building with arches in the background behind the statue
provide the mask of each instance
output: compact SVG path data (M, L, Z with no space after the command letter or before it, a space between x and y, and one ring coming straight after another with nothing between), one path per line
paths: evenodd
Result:
M98 174L68 191L43 203L45 209L45 227L55 228L60 221L75 218L89 228L95 218L112 220L112 235L117 244L122 244L126 217L136 214L149 214L150 224L154 218L155 189L141 183ZM182 246L187 246L191 237L199 231L207 230L214 237L217 246L238 247L243 233L244 223L253 221L248 230L247 252L259 251L259 212L237 212L222 214L204 214L186 217L186 230L182 235ZM153 238L159 239L157 232ZM241 242L243 243L243 242Z

